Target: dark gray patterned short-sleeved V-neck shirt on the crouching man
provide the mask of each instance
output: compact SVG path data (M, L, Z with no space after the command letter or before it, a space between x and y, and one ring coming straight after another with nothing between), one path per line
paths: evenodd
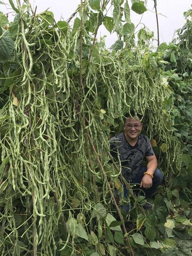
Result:
M139 134L134 146L127 142L124 132L109 140L110 153L116 162L121 162L121 173L126 180L134 180L142 165L144 157L154 155L152 145L146 135ZM118 159L119 152L119 159Z

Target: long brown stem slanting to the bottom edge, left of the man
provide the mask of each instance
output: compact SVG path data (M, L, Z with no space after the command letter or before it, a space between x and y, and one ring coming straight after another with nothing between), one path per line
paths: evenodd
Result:
M116 203L114 194L113 194L113 192L112 192L112 190L111 190L110 183L109 183L109 181L107 180L106 172L104 171L104 167L103 167L103 165L101 164L101 161L99 160L99 155L98 155L98 153L97 153L97 151L96 151L96 148L95 148L95 146L94 146L94 144L93 144L93 140L92 140L92 138L91 138L91 136L90 136L89 134L88 134L88 139L89 139L89 141L90 141L90 143L91 143L91 146L92 146L92 148L93 148L93 151L94 151L94 153L95 153L96 160L97 160L97 162L98 162L98 164L99 164L99 166L100 166L100 168L101 168L101 172L103 173L104 178L105 178L105 180L106 180L106 182L107 182L107 187L108 187L108 189L109 189L109 193L111 194L111 198L113 199L114 205L115 205L115 207L116 207L116 209L117 209L117 212L118 212L118 214L119 214L119 217L120 217L120 219L121 219L121 223L122 223L122 226L123 226L123 229L124 229L124 234L127 234L127 232L126 232L126 227L125 227L125 223L124 223L124 219L123 219L123 216L122 216L122 214L121 214L121 210L119 209L119 206L118 206L117 203ZM133 248L132 248L132 246L131 246L131 242L130 242L130 239L129 239L129 235L128 235L128 234L127 234L127 236L126 236L126 241L127 241L128 245L129 245L129 249L130 249L131 256L134 256L134 251L133 251Z

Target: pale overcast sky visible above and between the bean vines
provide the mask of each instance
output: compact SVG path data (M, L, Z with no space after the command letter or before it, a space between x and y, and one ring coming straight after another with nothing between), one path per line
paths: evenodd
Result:
M8 0L4 0L4 3L9 3ZM15 2L13 0L13 2ZM37 5L37 13L42 12L49 8L54 13L55 19L60 20L61 16L64 20L67 20L71 14L76 10L80 0L31 0L30 3L35 9ZM131 8L131 1L128 0L129 7ZM177 28L181 28L184 25L184 11L187 11L190 8L192 1L191 0L157 0L157 12L162 15L158 15L159 18L159 30L160 30L160 43L172 41L174 36L174 31ZM154 0L147 1L148 11L143 14L142 20L141 15L136 14L131 11L131 21L137 25L141 20L150 30L154 31L154 36L157 38L157 23L156 16L154 13ZM6 5L8 8L9 6ZM0 10L3 13L8 13L10 10L6 9L4 5L0 5ZM164 15L164 16L163 16ZM12 20L13 17L9 14L9 20ZM111 13L109 12L109 15ZM166 17L165 17L166 16ZM73 25L73 24L71 24ZM106 46L110 47L116 41L116 35L111 34L102 26L98 33L98 38L103 35L106 37ZM154 43L155 44L155 43Z

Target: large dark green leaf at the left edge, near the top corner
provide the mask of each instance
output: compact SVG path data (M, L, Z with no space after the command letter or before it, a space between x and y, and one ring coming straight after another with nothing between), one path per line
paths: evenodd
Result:
M2 58L3 61L9 58L13 50L14 41L11 38L4 36L0 39L0 58Z

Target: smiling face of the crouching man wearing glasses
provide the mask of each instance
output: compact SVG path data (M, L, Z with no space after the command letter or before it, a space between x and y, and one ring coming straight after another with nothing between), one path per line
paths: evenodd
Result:
M136 139L141 133L141 129L142 129L142 124L139 119L136 119L135 117L126 118L126 121L124 124L124 131L127 137L129 137L130 139Z

